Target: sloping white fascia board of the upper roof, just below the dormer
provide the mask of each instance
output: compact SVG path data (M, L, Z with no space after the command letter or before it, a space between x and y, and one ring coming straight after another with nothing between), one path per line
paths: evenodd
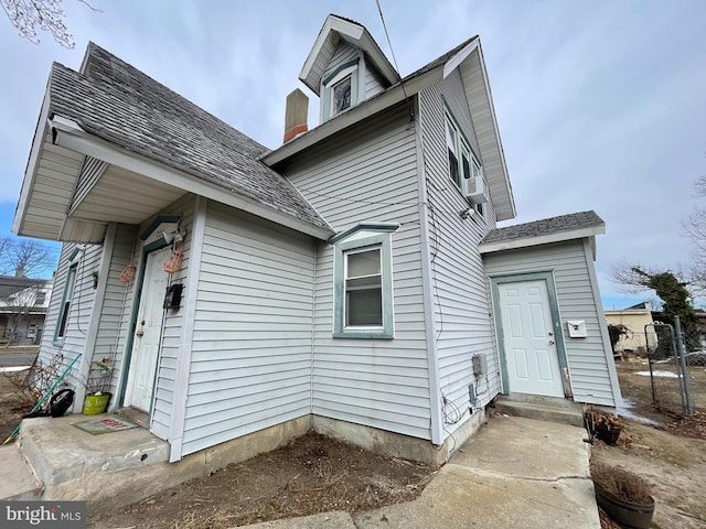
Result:
M405 82L405 89L398 84L386 91L363 101L360 105L338 115L335 118L321 123L319 127L304 132L301 136L288 141L279 149L269 151L263 154L259 160L268 166L274 166L277 163L287 160L290 156L308 149L315 143L335 134L336 132L355 125L374 114L385 110L392 107L396 102L405 100L405 91L407 97L411 97L419 93L424 88L431 86L435 83L439 83L441 77L441 67L431 69L419 77L416 77L409 82Z

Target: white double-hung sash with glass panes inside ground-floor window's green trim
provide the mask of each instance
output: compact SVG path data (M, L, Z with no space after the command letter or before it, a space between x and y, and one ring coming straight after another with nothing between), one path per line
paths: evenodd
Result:
M383 325L381 247L345 253L345 326Z

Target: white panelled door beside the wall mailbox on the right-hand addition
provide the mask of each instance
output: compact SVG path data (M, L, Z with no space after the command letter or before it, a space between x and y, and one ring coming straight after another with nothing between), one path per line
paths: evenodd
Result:
M500 283L506 388L511 393L564 397L561 369L544 280Z

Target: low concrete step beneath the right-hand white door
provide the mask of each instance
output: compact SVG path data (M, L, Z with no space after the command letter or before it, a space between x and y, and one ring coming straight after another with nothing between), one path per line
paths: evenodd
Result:
M512 417L584 427L581 404L568 399L520 393L500 395L495 399L495 411Z

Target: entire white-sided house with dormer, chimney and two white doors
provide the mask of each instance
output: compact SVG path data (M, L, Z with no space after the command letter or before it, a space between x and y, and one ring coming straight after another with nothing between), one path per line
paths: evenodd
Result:
M54 64L13 229L64 241L41 358L85 355L77 402L109 357L111 409L171 461L310 427L443 461L501 392L614 406L603 223L495 227L515 205L480 40L400 83L330 15L300 78L321 125L293 93L268 152L93 43Z

